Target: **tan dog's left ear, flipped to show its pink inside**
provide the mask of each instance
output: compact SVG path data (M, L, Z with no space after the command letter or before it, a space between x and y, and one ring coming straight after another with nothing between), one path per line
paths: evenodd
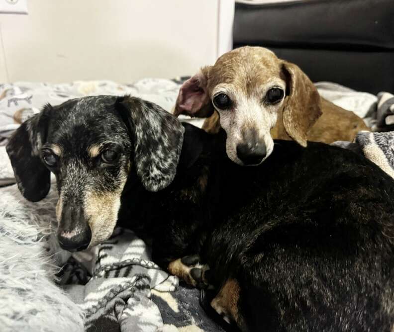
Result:
M207 118L213 113L207 88L209 69L210 66L201 68L195 76L182 84L175 104L175 116L184 114Z

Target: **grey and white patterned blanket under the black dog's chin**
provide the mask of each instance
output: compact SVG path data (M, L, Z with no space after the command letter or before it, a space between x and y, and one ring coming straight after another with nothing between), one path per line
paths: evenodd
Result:
M221 331L199 306L199 292L161 270L129 230L74 254L60 283L84 310L86 331Z

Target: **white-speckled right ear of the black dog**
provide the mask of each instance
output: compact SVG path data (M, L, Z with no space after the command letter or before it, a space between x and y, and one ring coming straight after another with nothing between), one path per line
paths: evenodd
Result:
M184 127L171 113L139 98L116 100L134 139L134 164L149 191L158 191L174 179L181 155Z

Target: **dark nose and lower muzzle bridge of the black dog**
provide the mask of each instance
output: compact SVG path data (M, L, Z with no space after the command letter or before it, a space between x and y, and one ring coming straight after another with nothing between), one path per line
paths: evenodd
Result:
M82 208L63 208L57 239L60 247L68 251L80 251L89 247L92 231Z

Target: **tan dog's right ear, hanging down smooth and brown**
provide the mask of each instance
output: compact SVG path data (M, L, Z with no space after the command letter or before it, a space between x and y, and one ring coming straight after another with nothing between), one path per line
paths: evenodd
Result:
M321 116L320 95L309 78L295 64L284 61L287 102L283 109L283 125L287 134L306 147L310 128Z

